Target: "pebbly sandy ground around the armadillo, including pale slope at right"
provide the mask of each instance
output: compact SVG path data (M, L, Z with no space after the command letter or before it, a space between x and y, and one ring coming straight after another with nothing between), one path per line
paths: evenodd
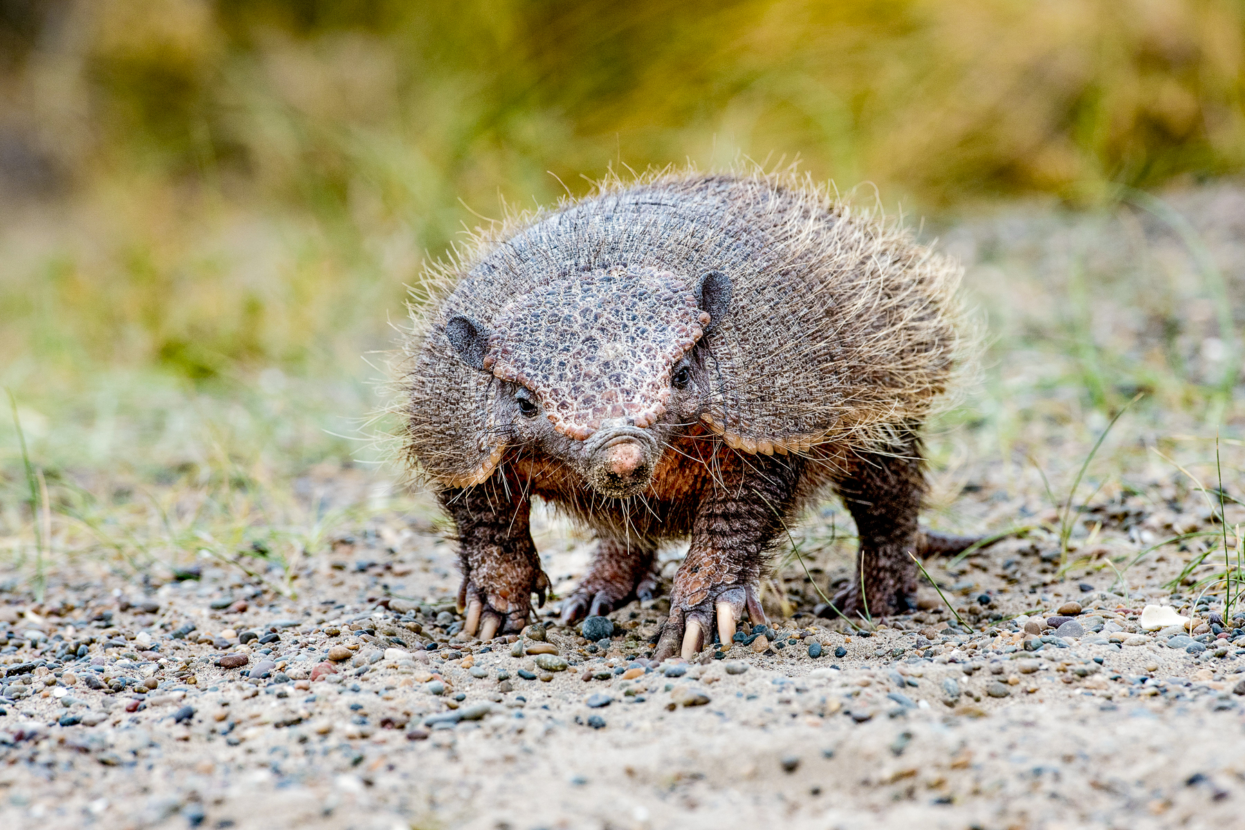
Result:
M1245 189L1174 204L1239 306ZM1214 414L1198 403L1228 353L1214 297L1179 239L1132 214L1003 217L952 229L947 246L970 266L997 365L980 401L992 426L933 431L928 518L1035 528L926 562L955 612L923 586L914 613L868 635L813 616L852 575L850 523L827 505L793 529L809 570L788 555L763 585L764 640L721 657L647 661L664 599L594 621L609 643L553 625L554 607L522 641L462 641L453 546L427 500L344 519L351 535L284 570L225 541L278 525L319 539L326 515L396 492L357 465L278 492L289 514L253 506L284 504L260 498L265 475L239 485L253 501L163 484L200 469L189 450L154 480L121 463L65 470L106 509L47 519L41 601L29 557L0 570L0 828L1236 826L1245 633L1221 605L1223 551L1206 556L1224 536L1216 494L1194 478L1216 480L1221 449L1239 550L1239 394ZM1092 301L1078 324L1081 260ZM1154 403L1114 427L1071 499L1108 426L1084 388ZM1066 499L1064 548L1050 505ZM545 515L534 530L565 596L590 541ZM187 560L208 538L217 556L243 549ZM679 554L662 553L667 579ZM1189 621L1145 631L1148 605Z

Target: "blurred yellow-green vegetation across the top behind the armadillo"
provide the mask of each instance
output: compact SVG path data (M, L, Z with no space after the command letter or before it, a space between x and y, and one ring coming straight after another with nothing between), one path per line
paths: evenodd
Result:
M1243 37L1233 0L0 0L0 363L322 370L472 212L610 166L944 218L1236 173Z

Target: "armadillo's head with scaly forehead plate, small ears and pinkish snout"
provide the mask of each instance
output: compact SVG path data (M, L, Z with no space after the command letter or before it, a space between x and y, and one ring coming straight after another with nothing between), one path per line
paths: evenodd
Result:
M619 266L542 284L488 322L457 315L446 335L463 361L509 386L496 421L513 438L625 498L649 484L667 433L707 391L688 353L730 295L721 273L687 281Z

